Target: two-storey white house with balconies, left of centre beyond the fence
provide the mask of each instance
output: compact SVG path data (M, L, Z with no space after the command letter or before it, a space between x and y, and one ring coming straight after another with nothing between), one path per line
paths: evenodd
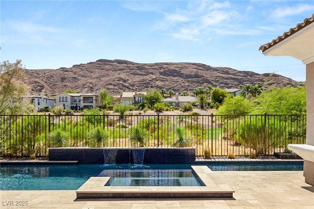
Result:
M61 93L56 95L56 105L63 105L65 109L92 109L100 105L97 94Z

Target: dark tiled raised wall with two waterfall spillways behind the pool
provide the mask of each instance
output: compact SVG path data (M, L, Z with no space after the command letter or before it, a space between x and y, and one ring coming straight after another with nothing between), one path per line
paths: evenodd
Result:
M104 164L104 149L117 149L116 163L134 163L133 149L145 149L143 164L191 164L196 148L49 148L49 160L78 160L79 164Z

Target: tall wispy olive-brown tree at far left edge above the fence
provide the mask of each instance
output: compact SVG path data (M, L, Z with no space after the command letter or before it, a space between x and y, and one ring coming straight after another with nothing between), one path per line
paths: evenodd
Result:
M0 115L22 114L30 111L30 101L22 100L28 87L23 82L24 68L21 60L3 61L0 72Z

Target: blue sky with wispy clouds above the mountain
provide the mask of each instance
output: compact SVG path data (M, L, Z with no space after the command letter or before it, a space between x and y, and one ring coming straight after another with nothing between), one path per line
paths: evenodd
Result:
M310 18L314 1L1 0L0 10L0 59L26 69L197 62L305 81L300 60L259 48Z

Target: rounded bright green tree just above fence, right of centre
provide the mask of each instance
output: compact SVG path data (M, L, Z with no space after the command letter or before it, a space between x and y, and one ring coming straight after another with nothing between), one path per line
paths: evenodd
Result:
M221 115L245 115L252 110L252 104L242 96L227 97L216 111Z

